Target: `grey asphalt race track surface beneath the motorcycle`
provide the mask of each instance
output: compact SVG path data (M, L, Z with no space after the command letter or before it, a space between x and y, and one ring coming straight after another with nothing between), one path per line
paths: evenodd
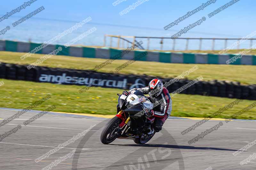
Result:
M16 114L16 110L0 109L0 118L6 119ZM17 125L36 115L30 111L12 120L0 128L3 134ZM64 160L54 170L70 169L255 169L256 159L241 166L240 162L256 153L256 145L247 151L233 156L233 152L256 139L256 122L232 121L223 122L215 130L199 139L196 143L188 141L202 131L210 129L220 121L208 121L185 135L181 131L187 129L198 120L168 119L164 129L148 142L135 144L133 140L116 139L113 143L104 145L100 142L102 127L108 119L88 116L65 115L49 113L27 126L22 126L16 133L0 141L0 169L2 170L41 170L55 159L76 149L73 157ZM0 121L1 122L1 121ZM36 163L34 160L54 147L62 144L92 128L84 137L65 146L48 158Z

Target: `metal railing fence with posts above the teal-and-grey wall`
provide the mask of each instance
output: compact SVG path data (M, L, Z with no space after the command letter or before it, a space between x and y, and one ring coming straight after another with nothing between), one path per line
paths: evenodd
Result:
M109 43L109 46L107 46L107 37L110 38L110 43ZM117 39L117 45L116 46L113 46L113 38L116 38ZM128 39L131 39L130 41ZM157 50L163 50L163 46L164 46L164 39L172 39L171 37L142 37L142 36L123 36L123 35L120 35L120 36L117 36L117 35L105 35L104 36L104 47L114 47L114 48L127 48L129 47L130 45L133 45L135 43L137 43L137 39L146 39L147 41L147 48L146 49L150 49L150 39L159 39L160 40L160 49L157 49ZM228 41L239 41L241 40L242 38L175 38L175 39L172 39L172 46L170 48L168 48L168 50L175 50L176 48L176 41L177 40L185 40L186 43L185 43L185 50L188 50L188 45L189 45L189 42L192 42L192 41L195 41L195 40L199 40L199 44L198 44L198 50L202 50L202 43L204 40L211 40L212 43L211 45L207 45L207 47L211 47L207 50L215 50L215 41L216 40L221 40L221 41L224 41L224 48L227 48L228 47ZM246 40L249 40L250 41L250 45L249 45L249 48L252 47L252 43L253 43L253 40L256 40L254 38L252 39L246 39ZM126 44L125 44L126 43ZM143 44L145 45L145 44ZM140 49L144 49L142 46L139 47ZM223 48L223 49L224 49ZM237 45L237 49L240 49L240 44Z

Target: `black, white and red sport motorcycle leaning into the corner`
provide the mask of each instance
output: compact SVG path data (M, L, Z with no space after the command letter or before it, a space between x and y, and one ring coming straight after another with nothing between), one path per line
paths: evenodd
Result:
M110 144L118 138L146 144L156 133L153 128L155 117L149 114L153 104L139 90L132 90L128 96L117 95L120 112L102 129L100 141Z

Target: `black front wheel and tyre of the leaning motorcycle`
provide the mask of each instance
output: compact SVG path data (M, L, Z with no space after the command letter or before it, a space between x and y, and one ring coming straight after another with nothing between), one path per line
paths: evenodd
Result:
M108 121L100 135L100 141L102 144L110 144L118 137L117 132L121 122L122 120L116 116Z

